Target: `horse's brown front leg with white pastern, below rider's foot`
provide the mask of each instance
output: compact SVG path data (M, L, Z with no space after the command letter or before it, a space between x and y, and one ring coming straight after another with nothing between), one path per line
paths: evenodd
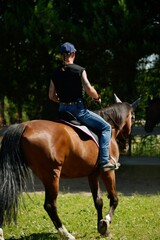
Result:
M110 209L107 215L99 222L99 232L102 235L109 235L108 227L112 222L114 211L118 205L118 196L116 192L115 171L101 173L101 177L110 199Z

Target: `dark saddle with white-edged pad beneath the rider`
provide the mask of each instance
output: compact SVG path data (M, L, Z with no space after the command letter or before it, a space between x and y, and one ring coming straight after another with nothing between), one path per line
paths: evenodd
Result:
M93 130L89 129L87 126L82 125L80 121L71 113L71 112L60 112L59 113L59 122L62 122L66 125L69 125L73 127L75 130L79 129L86 135L90 136L94 142L99 147L99 138L97 133L95 133Z

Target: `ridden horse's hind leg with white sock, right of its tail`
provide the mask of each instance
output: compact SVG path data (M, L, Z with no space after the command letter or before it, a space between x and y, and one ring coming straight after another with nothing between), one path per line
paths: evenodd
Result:
M54 177L53 181L45 185L45 203L44 209L48 213L50 219L54 223L56 229L58 230L60 236L64 240L74 240L67 229L62 224L58 212L57 212L57 196L59 191L59 177Z

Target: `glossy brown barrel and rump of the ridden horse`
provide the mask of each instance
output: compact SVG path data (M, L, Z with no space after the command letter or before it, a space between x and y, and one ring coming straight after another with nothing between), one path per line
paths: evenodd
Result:
M36 175L49 174L55 169L62 177L81 177L87 176L96 165L96 144L89 137L81 138L70 126L47 120L23 124L26 127L22 149Z

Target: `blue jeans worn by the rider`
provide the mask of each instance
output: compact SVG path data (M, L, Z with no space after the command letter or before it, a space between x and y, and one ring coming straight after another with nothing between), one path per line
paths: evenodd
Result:
M111 138L111 125L98 114L89 111L82 100L76 104L60 104L59 111L71 112L82 124L95 129L99 134L99 164L104 165L109 162L109 143Z

